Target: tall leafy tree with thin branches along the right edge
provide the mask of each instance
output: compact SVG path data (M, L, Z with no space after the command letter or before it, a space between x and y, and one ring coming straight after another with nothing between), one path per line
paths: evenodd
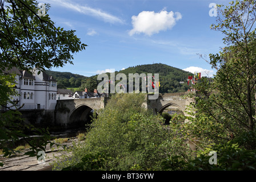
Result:
M225 35L226 47L210 54L213 82L197 85L197 117L205 119L208 137L230 140L255 129L256 2L232 1L225 9L218 5L218 12L211 28Z

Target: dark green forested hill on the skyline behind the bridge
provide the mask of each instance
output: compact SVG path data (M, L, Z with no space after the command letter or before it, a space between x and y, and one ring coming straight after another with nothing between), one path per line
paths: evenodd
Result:
M79 87L79 90L81 91L87 88L89 91L93 92L94 88L97 88L97 85L100 82L97 80L98 75L86 77L69 72L46 71L46 73L53 76L58 81L58 88ZM187 85L189 72L161 63L129 67L122 71L116 71L115 75L118 73L125 73L127 80L129 78L129 73L145 73L146 75L148 73L152 73L152 75L159 73L160 93L186 92L190 87ZM184 83L181 84L180 81L183 81Z

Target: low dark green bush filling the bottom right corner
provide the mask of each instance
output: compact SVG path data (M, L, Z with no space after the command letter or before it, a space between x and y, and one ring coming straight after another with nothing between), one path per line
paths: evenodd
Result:
M210 164L211 155L209 151L217 152L217 164ZM238 144L227 142L208 148L205 154L199 155L193 160L185 163L179 156L167 158L162 166L167 170L185 171L249 171L256 170L256 151L243 150Z

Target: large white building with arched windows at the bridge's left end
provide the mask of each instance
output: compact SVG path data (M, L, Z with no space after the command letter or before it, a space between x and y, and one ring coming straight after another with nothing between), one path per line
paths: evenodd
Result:
M24 104L21 108L23 110L54 110L57 104L57 81L42 71L38 75L38 71L38 69L35 69L33 74L31 74L30 72L13 68L10 71L4 72L16 75L17 84L15 89L19 96L14 96L13 100L18 101L18 106ZM7 107L10 106L10 104L7 104Z

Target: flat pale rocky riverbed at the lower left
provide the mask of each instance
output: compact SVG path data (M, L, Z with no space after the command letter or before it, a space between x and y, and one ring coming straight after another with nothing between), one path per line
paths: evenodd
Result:
M78 138L69 138L69 140L62 143L62 145L72 147L73 142L78 143ZM45 152L45 163L41 164L38 164L37 156L30 157L28 155L24 155L25 152L29 151L29 149L23 150L21 153L12 155L9 158L3 158L3 155L0 155L0 162L3 163L3 167L0 167L0 171L51 171L50 163L53 162L53 160L56 160L54 156L60 156L63 154L62 150L63 147L57 147L54 145L50 148L50 145L48 144Z

